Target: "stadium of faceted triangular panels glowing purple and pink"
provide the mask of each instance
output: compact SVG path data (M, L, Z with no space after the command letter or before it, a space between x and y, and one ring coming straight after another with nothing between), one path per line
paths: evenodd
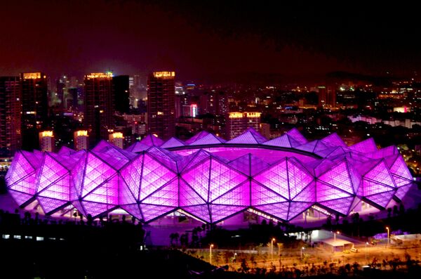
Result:
M297 129L267 140L253 129L225 141L202 131L188 141L155 136L121 150L19 151L6 175L21 207L45 214L107 216L119 210L149 223L188 216L220 223L241 214L277 221L347 216L401 202L413 177L394 146L372 138L348 147L337 134L307 141ZM244 213L243 213L244 212Z

